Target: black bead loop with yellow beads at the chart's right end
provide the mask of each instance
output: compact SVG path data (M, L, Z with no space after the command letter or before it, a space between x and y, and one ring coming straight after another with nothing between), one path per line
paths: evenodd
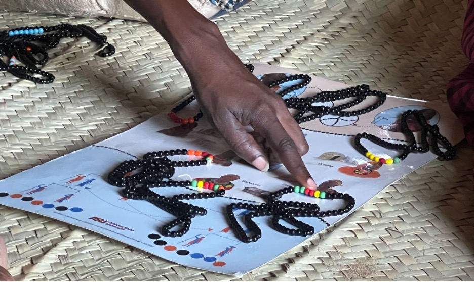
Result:
M421 138L421 146L417 146L415 135L413 132L410 130L407 124L407 118L409 116L413 115L421 126L421 132L420 132L420 138ZM390 150L400 150L402 153L398 157L400 161L403 161L408 157L408 154L410 153L426 153L429 151L429 142L428 142L428 133L430 134L430 140L431 140L431 147L433 148L434 154L436 154L441 160L443 161L449 161L454 159L456 156L456 151L453 148L452 144L449 142L449 140L443 136L440 133L440 128L438 125L430 125L426 122L425 117L421 112L418 110L408 110L402 114L401 117L401 126L402 126L402 131L407 137L407 143L406 144L393 144L390 142L386 142L385 140L380 139L377 136L374 136L369 133L359 133L355 135L354 139L354 145L355 149L359 151L361 154L366 155L367 152L369 152L362 144L361 144L361 139L367 139L371 142L373 142L376 145L379 145L380 147L390 149ZM445 151L441 151L439 147L439 142L441 142L444 147Z

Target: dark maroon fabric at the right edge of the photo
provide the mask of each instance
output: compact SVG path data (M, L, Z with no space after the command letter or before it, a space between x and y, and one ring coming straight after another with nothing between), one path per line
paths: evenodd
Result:
M451 110L462 123L467 142L474 147L474 0L468 0L461 47L470 64L449 81L447 96Z

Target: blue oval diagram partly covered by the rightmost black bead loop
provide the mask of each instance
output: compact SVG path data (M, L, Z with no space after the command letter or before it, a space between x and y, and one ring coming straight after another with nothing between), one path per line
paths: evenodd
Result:
M402 114L408 110L418 110L421 112L425 117L426 122L430 125L435 125L440 122L440 114L434 109L425 106L402 106L391 108L379 113L375 116L372 124L386 131L402 132L401 117ZM407 117L407 125L412 132L421 131L421 126L413 115Z

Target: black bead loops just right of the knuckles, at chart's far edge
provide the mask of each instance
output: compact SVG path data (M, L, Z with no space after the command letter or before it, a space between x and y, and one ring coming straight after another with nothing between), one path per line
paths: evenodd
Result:
M367 96L375 96L378 101L374 104L360 110L343 111L362 103ZM313 106L314 103L335 102L347 98L355 98L347 103L335 107ZM285 104L289 109L296 109L298 112L294 115L299 124L318 119L325 115L335 115L339 117L351 117L367 114L378 107L387 99L387 95L381 91L370 90L368 85L357 85L347 89L337 91L322 91L312 97L297 98L291 97L285 99ZM306 115L309 114L309 115Z

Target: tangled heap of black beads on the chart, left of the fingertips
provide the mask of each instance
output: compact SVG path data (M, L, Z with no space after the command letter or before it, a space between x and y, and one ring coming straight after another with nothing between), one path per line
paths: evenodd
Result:
M122 196L127 199L145 200L157 208L160 208L177 219L162 227L163 236L181 237L189 231L191 219L196 215L206 215L207 210L192 204L182 202L182 200L209 199L221 197L225 190L208 193L179 194L173 197L165 197L153 192L155 187L188 187L191 181L174 181L171 177L175 174L176 167L193 167L207 165L206 157L196 161L172 161L169 156L187 155L186 149L169 151L159 151L147 153L142 160L129 160L122 162L107 176L108 183L124 188ZM140 169L139 172L130 176L125 174ZM168 179L168 180L166 180ZM177 231L170 231L173 227L182 224L182 228Z

